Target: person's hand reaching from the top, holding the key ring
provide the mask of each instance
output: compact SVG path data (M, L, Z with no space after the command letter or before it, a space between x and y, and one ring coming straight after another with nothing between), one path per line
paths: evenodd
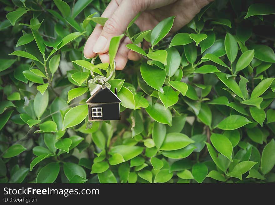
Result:
M108 18L104 27L96 25L84 47L84 56L93 58L96 53L102 62L109 62L108 50L110 40L122 34L132 19L139 13L136 24L141 31L152 30L160 21L170 16L176 16L171 33L189 23L195 15L213 0L112 0L103 12L102 17ZM126 45L131 40L124 38L119 46L116 69L122 70L128 59L138 60L139 54L130 51Z

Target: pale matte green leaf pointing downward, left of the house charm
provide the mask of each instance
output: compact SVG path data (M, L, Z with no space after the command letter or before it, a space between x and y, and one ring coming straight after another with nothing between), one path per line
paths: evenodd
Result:
M40 92L37 92L33 101L33 109L38 120L47 109L48 102L49 102L49 93L47 90L44 92L43 95Z

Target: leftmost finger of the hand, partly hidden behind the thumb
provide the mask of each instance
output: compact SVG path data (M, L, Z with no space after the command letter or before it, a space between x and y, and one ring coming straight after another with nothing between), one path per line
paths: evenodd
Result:
M106 7L105 11L101 15L101 17L109 18L112 16L113 12L118 8L118 4L116 1L111 1L108 6ZM97 24L94 28L92 34L86 41L86 44L84 46L83 55L85 58L93 58L96 53L93 52L93 46L95 45L96 41L98 40L98 37L100 36L100 33L102 32L103 26L100 24Z

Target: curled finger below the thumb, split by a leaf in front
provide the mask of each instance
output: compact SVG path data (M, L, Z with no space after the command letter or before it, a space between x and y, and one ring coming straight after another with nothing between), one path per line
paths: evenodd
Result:
M131 43L132 41L127 37L125 38L118 48L117 55L115 57L116 61L116 70L122 70L128 61L128 53L129 49L126 47L127 44ZM106 53L99 54L99 58L103 63L109 63L109 55Z

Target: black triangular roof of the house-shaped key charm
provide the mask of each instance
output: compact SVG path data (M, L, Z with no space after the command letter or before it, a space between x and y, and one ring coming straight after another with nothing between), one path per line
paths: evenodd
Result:
M101 85L96 85L91 93L91 97L86 101L87 104L91 103L120 103L118 96L115 95L107 87L101 88Z

